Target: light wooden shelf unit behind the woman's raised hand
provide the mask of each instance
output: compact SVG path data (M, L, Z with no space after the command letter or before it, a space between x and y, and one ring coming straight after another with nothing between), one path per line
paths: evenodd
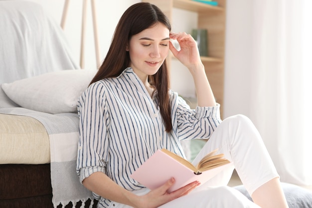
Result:
M224 49L225 49L225 19L226 0L217 0L218 6L212 6L192 0L143 0L157 5L172 22L172 9L180 8L194 11L198 14L197 28L208 31L208 56L201 57L205 66L206 76L213 90L216 101L223 106L224 90ZM176 17L175 17L176 18ZM172 55L167 57L170 68Z

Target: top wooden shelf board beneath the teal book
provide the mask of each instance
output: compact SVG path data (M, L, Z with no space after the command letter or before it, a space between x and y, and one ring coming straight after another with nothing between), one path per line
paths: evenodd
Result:
M192 0L173 0L173 7L195 12L207 11L224 11L223 7L212 6L205 3L200 3Z

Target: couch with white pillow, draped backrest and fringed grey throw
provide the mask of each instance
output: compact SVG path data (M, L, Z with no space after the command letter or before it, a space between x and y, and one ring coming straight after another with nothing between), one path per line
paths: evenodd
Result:
M0 208L95 208L76 174L76 103L96 71L40 5L0 0L0 19ZM311 192L283 188L290 208L312 208Z

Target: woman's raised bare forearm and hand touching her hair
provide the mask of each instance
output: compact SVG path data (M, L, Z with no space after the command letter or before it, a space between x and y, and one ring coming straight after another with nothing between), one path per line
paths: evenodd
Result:
M197 43L190 34L170 33L171 39L176 39L180 45L177 51L171 42L169 48L173 55L190 71L196 89L197 103L200 107L216 106L215 98L208 82L204 65L200 60Z

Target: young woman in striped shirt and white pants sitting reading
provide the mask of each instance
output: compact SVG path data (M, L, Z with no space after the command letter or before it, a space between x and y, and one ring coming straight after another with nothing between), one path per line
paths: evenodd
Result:
M81 182L98 197L99 208L287 208L256 128L241 115L221 122L196 42L170 30L166 16L150 3L134 4L121 17L102 66L78 102ZM170 39L178 41L179 51ZM192 74L195 110L168 88L169 50ZM180 140L194 138L209 138L194 164L218 148L233 166L200 187L195 181L171 193L173 178L153 191L130 178L158 149L185 157ZM234 167L255 203L226 187Z

